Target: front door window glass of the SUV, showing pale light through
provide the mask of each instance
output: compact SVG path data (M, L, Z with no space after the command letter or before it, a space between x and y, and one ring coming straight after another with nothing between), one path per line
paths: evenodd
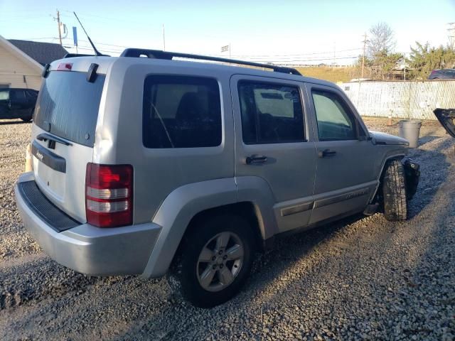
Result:
M333 92L311 92L316 110L319 141L354 140L355 119L346 103Z

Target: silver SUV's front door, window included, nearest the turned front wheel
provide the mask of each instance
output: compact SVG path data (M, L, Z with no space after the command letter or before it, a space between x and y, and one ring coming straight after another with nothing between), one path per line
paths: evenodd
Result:
M316 177L310 223L363 211L378 184L380 159L363 121L336 87L306 84L314 114Z

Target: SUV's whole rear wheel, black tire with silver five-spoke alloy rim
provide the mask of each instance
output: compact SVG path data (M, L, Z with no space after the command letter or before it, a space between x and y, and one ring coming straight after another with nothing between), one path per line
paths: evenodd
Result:
M200 308L211 308L235 296L250 274L252 229L237 215L212 215L196 222L183 240L171 288Z

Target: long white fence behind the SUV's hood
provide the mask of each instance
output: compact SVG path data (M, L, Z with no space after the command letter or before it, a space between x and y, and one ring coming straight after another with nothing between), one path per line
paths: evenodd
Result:
M436 119L436 108L455 108L455 80L348 82L340 85L363 116Z

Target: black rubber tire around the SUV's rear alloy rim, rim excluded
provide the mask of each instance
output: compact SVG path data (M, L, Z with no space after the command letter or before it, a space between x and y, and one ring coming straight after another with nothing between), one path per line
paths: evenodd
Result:
M208 291L203 288L198 279L198 271L200 271L198 259L207 243L222 232L230 232L239 237L243 247L243 260L232 283L220 291ZM254 256L254 239L247 220L237 215L227 214L205 217L196 222L182 242L178 264L168 274L168 283L173 291L177 291L197 307L211 308L229 301L241 290L250 274ZM225 247L225 249L229 248ZM220 275L217 272L215 276ZM216 278L213 278L215 281Z

